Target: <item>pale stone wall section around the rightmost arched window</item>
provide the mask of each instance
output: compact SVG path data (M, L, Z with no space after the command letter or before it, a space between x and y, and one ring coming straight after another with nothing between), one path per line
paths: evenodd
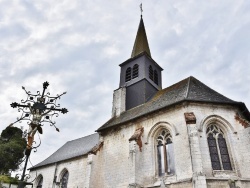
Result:
M237 109L231 106L193 104L186 107L194 112L199 129L199 142L202 154L203 173L207 178L207 187L229 187L229 180L235 181L240 188L250 187L250 139L249 128L245 129L235 120ZM206 137L206 127L217 124L226 136L232 171L213 171ZM217 182L217 183L216 183Z

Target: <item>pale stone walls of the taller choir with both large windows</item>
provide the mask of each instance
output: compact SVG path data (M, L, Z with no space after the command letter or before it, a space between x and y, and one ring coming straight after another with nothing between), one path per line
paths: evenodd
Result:
M237 109L225 105L193 103L162 110L109 130L103 136L104 146L102 150L97 153L93 161L96 165L93 168L93 173L98 176L99 180L94 180L91 177L90 185L93 185L92 187L102 185L102 187L107 188L160 186L162 177L158 177L155 136L161 128L167 128L173 137L176 173L165 176L164 182L168 187L178 187L180 184L178 182L191 181L187 184L192 186L192 181L194 181L193 164L188 128L184 118L185 112L194 112L197 118L195 129L198 130L198 142L191 142L191 144L195 144L192 147L200 150L198 153L201 153L202 171L201 174L197 174L196 179L208 178L210 181L211 178L215 178L215 182L204 184L205 187L216 186L216 181L218 181L217 186L222 184L224 186L225 181L227 182L229 179L237 179L238 182L244 181L244 185L248 184L247 182L250 180L248 171L250 169L250 133L249 128L244 129L234 119ZM223 126L223 123L225 124L222 129L226 133L233 166L232 171L218 172L212 170L205 131L206 124L211 122L218 123L220 126ZM135 149L131 149L133 144L129 144L128 141L139 127L144 127L141 152L135 142ZM194 153L197 153L196 149L193 151ZM131 154L131 152L134 152L134 154ZM193 158L195 159L194 156ZM94 169L97 169L98 172Z

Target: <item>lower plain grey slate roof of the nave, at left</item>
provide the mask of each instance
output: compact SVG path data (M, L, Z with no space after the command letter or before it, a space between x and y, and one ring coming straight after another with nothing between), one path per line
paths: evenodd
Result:
M44 161L38 163L37 165L31 167L30 169L35 169L41 166L53 164L56 162L64 161L67 159L72 159L87 154L95 145L99 142L99 134L95 133L88 135L76 140L71 140L66 142L62 147L60 147L55 153L49 156Z

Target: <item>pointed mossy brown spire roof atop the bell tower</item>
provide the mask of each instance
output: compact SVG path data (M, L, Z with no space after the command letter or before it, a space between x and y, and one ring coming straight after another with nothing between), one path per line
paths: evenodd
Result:
M147 54L151 57L142 15L141 15L141 20L140 20L139 28L137 31L137 35L135 38L135 43L134 43L133 51L131 54L131 58L137 56L141 52L147 52Z

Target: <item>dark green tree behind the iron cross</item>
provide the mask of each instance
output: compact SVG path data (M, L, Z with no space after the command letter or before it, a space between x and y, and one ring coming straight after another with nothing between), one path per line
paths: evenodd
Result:
M17 170L26 147L23 131L17 127L7 127L0 138L0 174Z

